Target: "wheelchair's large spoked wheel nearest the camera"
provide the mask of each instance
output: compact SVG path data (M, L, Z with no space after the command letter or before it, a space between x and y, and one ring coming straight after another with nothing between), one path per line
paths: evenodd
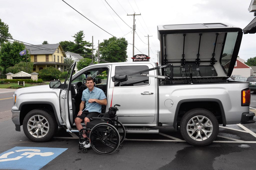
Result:
M89 140L93 150L103 155L115 152L120 144L117 129L108 123L94 126L90 132Z

